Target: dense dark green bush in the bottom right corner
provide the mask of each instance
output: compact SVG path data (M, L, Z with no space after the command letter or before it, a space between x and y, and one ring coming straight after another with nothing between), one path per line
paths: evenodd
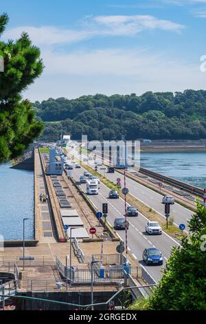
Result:
M146 305L149 310L206 310L206 208L201 203L189 227L193 234L172 250L159 287Z

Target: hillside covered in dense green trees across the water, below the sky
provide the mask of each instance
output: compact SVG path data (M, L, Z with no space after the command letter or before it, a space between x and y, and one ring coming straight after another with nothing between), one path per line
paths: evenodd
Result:
M45 122L43 139L58 139L60 130L81 139L203 139L206 138L206 91L104 94L34 103Z

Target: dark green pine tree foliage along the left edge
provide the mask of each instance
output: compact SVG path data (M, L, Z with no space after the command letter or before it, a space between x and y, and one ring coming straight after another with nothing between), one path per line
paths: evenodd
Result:
M0 36L8 22L0 16ZM43 72L40 50L32 45L27 33L17 41L0 41L4 72L0 72L0 163L22 154L43 130L30 101L21 99L21 92Z

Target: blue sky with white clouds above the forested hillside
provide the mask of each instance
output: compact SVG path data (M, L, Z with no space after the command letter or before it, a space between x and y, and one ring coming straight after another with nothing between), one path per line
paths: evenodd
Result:
M4 41L25 31L41 49L32 101L206 89L206 0L7 0L0 12Z

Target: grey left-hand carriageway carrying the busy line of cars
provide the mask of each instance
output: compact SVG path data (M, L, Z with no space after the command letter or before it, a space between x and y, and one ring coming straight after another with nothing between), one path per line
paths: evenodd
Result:
M73 169L72 176L76 181L79 181L80 175L84 172L84 168L81 169ZM82 185L84 192L86 192L86 185ZM110 190L103 184L100 183L100 191L98 195L90 195L89 199L93 202L93 204L98 208L98 210L102 211L102 203L108 203L108 221L113 225L113 221L115 218L124 217L124 200L119 199L108 199L108 192ZM139 213L138 217L128 217L128 221L130 222L129 230L128 230L128 247L134 258L137 259L137 262L146 267L146 270L152 276L155 281L159 281L161 279L161 270L162 266L159 265L145 265L142 261L142 252L146 247L157 247L163 253L163 261L168 260L170 256L170 251L172 246L178 245L176 241L168 234L163 233L162 235L148 235L145 232L147 219L144 215ZM117 231L122 240L125 241L125 232Z

